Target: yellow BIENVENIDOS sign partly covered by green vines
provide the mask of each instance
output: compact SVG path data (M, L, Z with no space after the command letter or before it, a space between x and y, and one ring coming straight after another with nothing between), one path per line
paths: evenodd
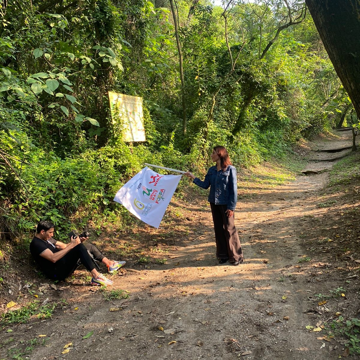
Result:
M124 141L146 141L143 98L108 91L113 124L123 122Z

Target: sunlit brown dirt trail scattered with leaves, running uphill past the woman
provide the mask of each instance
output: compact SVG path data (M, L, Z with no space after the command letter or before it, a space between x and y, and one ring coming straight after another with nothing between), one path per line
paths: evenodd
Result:
M311 146L318 150L351 145L351 131L339 136ZM318 154L310 152L309 158ZM334 157L321 152L322 160L324 154ZM310 162L306 169L321 171L333 163ZM326 172L298 176L273 188L240 186L235 220L244 264L217 264L205 199L183 204L185 216L194 219L189 239L179 239L182 246L169 250L166 264L135 266L116 277L113 289L130 291L129 298L107 302L100 293L80 286L64 312L49 321L18 325L12 336L16 331L29 338L53 334L46 346L30 355L39 360L336 359L341 345L324 340L323 329L305 328L321 325L319 321L328 316L314 298L318 280L322 286L330 280L327 264L301 261L307 254L302 244L306 219L323 211L316 204L327 176ZM93 330L93 336L82 339ZM71 341L69 353L61 354Z

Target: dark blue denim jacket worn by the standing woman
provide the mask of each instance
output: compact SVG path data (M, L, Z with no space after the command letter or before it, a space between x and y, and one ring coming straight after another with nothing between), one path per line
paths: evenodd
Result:
M210 186L208 202L216 205L227 205L228 210L235 210L238 199L238 186L234 166L229 165L225 171L217 171L216 165L212 166L208 170L204 181L195 177L193 183L204 189L208 189Z

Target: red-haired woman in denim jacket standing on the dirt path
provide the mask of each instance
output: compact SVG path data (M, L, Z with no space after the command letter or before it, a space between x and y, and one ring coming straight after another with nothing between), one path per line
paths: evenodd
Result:
M204 181L189 171L184 175L191 177L193 183L201 188L208 189L210 186L208 202L214 222L216 257L219 264L229 261L233 265L239 265L245 258L234 221L238 199L236 169L231 165L228 150L223 146L219 145L213 149L211 160L216 162L216 165L208 170Z

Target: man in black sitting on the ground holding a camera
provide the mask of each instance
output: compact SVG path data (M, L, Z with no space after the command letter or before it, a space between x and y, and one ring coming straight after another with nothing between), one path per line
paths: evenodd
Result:
M93 244L82 244L87 238L75 239L64 244L53 239L55 225L50 221L40 221L36 228L35 237L30 243L30 252L41 271L51 280L64 280L78 267L78 261L86 267L93 276L91 285L112 285L113 282L100 274L94 265L89 252L94 259L102 261L108 272L113 273L125 265L125 261L109 260ZM89 251L89 252L88 252Z

